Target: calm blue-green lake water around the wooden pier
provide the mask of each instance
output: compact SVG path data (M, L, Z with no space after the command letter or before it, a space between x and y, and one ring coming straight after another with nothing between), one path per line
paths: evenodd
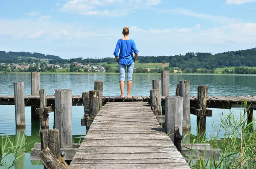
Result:
M161 79L161 74L134 74L131 95L150 96L152 80ZM119 74L41 74L40 88L46 90L47 95L53 95L55 89L71 89L73 95L81 95L94 89L94 81L103 81L103 95L120 95ZM170 95L175 95L179 80L190 80L190 94L197 95L198 85L208 85L209 96L245 96L256 95L256 76L253 75L192 75L192 74L171 74ZM24 82L24 94L31 94L31 74L0 74L0 95L14 95L13 83ZM127 93L125 83L125 94ZM212 117L207 117L207 133L212 134L212 123L218 125L219 113L228 110L213 109ZM240 109L232 109L234 113ZM39 129L35 128L37 123L31 124L31 109L25 107L26 113L26 136L28 141L40 142ZM82 106L73 106L73 135L79 140L79 135L85 134L85 126L81 126L81 118L84 115ZM53 114L49 115L50 128L53 126ZM191 115L191 132L196 134L196 117ZM1 134L2 133L2 134ZM15 137L15 108L12 105L0 105L0 134L12 135ZM208 134L207 134L208 135ZM31 149L31 145L26 149ZM30 153L17 164L15 169L43 169L43 166L32 165ZM24 162L23 162L24 161ZM33 162L34 163L34 162ZM36 164L36 163L34 163Z

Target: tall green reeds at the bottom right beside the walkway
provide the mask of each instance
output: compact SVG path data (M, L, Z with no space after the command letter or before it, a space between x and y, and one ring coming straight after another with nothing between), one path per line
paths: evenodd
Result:
M244 107L247 107L246 100ZM228 114L223 112L220 115L220 125L215 126L213 123L213 134L201 142L209 143L213 149L221 149L219 160L213 157L206 160L204 156L201 156L199 161L190 158L187 162L192 169L256 168L256 120L248 121L248 109L241 108L239 115L235 115L231 110ZM192 137L195 143L201 140L201 136Z

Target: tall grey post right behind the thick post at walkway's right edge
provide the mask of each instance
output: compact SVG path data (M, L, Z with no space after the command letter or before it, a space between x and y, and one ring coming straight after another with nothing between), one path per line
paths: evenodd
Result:
M180 80L179 96L183 97L183 137L190 134L190 80ZM185 143L189 143L188 135Z

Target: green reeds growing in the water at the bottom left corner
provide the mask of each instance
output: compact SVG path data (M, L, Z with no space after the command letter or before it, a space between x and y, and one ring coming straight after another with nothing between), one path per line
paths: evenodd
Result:
M0 142L0 168L10 169L18 160L25 155L25 146L29 143L25 142L25 134L11 140L8 136L2 136Z

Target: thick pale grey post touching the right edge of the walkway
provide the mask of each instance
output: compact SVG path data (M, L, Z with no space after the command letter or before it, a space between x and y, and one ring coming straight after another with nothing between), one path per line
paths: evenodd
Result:
M183 97L166 97L165 132L169 135L178 151L181 151L183 133Z

